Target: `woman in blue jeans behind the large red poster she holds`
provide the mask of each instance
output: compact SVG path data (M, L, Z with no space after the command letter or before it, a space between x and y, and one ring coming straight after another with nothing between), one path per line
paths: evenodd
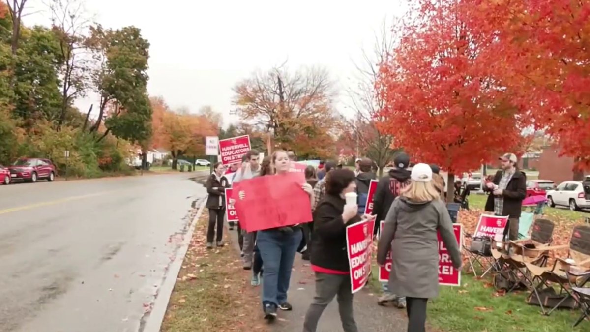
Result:
M287 152L275 151L271 164L276 174L273 175L276 181L284 181L280 175L287 174L291 164ZM309 195L310 201L313 200L313 189L309 184L301 184L301 190ZM291 304L287 302L287 291L301 237L300 225L257 232L258 249L264 262L262 304L264 318L268 321L274 321L277 317L277 309L293 310Z

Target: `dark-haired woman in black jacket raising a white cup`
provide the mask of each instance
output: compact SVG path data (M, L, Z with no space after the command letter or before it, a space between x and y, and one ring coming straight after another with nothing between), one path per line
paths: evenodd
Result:
M312 269L316 275L316 296L310 304L303 332L315 332L324 309L334 300L345 332L358 332L352 311L350 265L346 249L346 226L358 223L356 204L346 204L345 195L356 193L355 173L347 168L326 175L326 194L313 213ZM369 216L363 216L366 218Z

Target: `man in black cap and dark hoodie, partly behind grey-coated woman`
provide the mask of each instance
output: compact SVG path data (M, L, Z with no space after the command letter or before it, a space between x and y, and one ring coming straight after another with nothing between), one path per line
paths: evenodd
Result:
M388 174L379 179L375 196L373 197L373 214L376 214L375 219L375 234L379 230L381 220L385 220L385 216L389 212L391 204L394 203L396 197L402 188L409 183L411 172L408 171L409 156L405 152L400 152L394 158L394 168L389 170ZM388 302L397 302L398 308L406 307L405 297L396 297L395 294L389 292L387 282L381 283L383 295L379 297L378 304L385 305Z

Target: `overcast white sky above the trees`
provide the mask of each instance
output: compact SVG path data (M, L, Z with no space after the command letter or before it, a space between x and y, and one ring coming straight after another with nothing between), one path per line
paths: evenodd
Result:
M50 0L45 0L50 1ZM86 0L86 9L104 27L135 25L151 44L148 92L163 96L173 108L196 112L211 105L230 115L232 87L253 71L287 66L325 66L339 83L345 108L345 89L355 75L362 48L371 50L384 19L404 11L402 0L226 0L155 1ZM30 0L28 11L44 9ZM24 18L24 24L50 22L47 11ZM81 110L96 96L78 100Z

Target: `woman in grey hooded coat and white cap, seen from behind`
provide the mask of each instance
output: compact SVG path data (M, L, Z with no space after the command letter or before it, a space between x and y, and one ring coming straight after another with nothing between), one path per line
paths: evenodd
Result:
M385 217L377 262L385 264L391 250L389 289L406 297L408 331L423 332L428 299L438 295L437 232L457 269L461 267L461 252L447 207L432 182L430 166L415 165L411 179Z

